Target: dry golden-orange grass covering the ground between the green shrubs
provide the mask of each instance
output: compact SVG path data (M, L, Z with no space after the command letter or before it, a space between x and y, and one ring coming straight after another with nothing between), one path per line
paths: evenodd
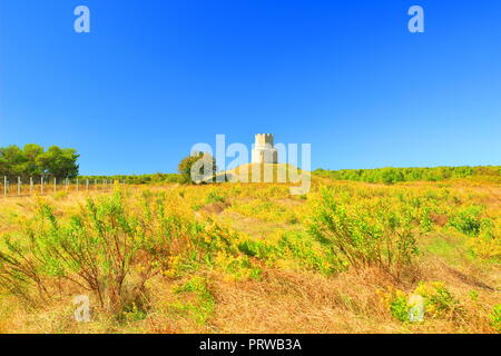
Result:
M458 207L479 204L498 225L501 221L499 184L454 180L446 184L413 182L396 187L332 181L315 178L307 198L291 197L282 185L229 185L220 187L157 186L153 191L179 195L196 210L197 219L210 219L230 226L240 238L272 241L284 231L305 234L305 221L322 186L384 199L402 191L411 196L446 192ZM212 191L224 201L207 199ZM143 187L129 188L139 195ZM91 191L97 197L106 192ZM61 218L79 210L88 194L48 196ZM23 221L33 216L38 197L0 200L0 234L17 234ZM268 204L258 212L257 202ZM433 230L422 234L422 254L395 280L379 268L353 268L332 275L301 267L293 261L271 263L253 258L259 278L235 277L220 266L198 266L184 274L157 276L148 281L149 309L146 316L117 322L114 316L92 309L90 323L77 323L71 293L50 303L28 308L12 296L0 296L0 333L494 333L489 316L501 303L501 265L495 259L472 257L466 237L448 228L449 215L455 206L440 202L441 211L430 216ZM250 212L248 212L250 211ZM253 212L255 211L255 214ZM291 220L289 216L297 217ZM499 236L497 236L499 241ZM196 293L179 294L176 288L193 277L206 283L214 298L214 310L203 314ZM411 324L395 319L381 299L381 290L392 287L413 293L420 281L442 281L459 300L461 314L454 318L426 318ZM71 290L67 286L66 290ZM198 301L197 301L198 300ZM202 299L200 299L202 300ZM213 301L210 301L213 303ZM189 305L195 305L190 309ZM193 312L195 310L195 312ZM204 318L194 317L202 313Z

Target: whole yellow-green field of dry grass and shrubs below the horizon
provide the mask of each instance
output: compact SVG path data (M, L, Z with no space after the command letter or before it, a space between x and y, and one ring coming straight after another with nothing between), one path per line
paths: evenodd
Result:
M0 333L500 333L500 233L480 178L2 198Z

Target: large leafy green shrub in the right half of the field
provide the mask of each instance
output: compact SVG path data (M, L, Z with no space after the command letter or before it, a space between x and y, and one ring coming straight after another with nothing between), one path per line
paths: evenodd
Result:
M314 210L310 234L355 268L377 266L399 277L418 253L409 216L384 201L344 202L323 189Z

